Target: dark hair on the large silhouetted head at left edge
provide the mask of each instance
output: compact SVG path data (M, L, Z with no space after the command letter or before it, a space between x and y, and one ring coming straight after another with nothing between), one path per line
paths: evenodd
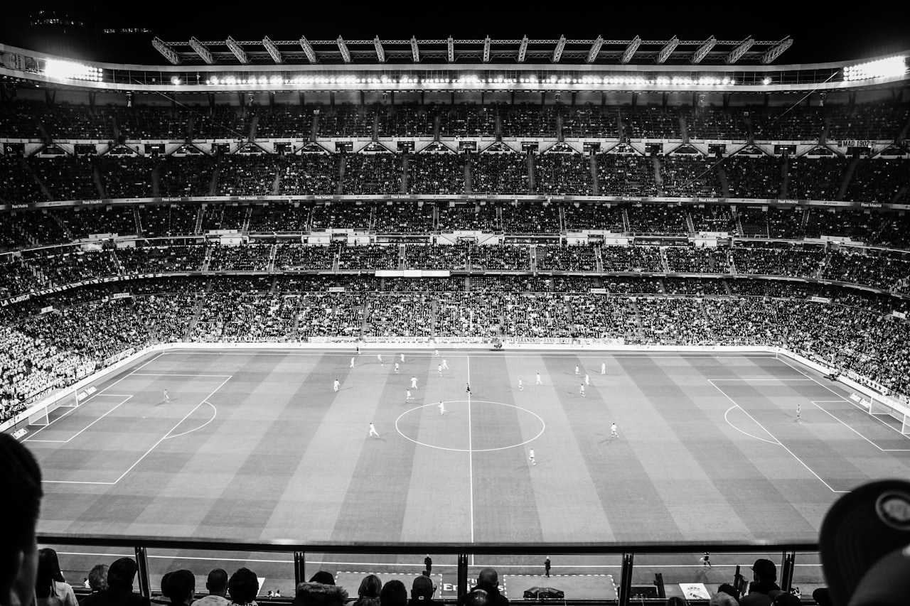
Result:
M19 571L17 554L35 549L35 525L41 510L41 468L32 453L12 436L0 434L0 592Z

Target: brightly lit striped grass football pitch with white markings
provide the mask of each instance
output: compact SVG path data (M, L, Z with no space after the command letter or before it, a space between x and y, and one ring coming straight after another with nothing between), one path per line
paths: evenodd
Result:
M385 365L364 352L354 369L351 352L308 350L140 360L28 434L51 480L39 530L812 541L839 491L910 476L910 439L767 355L399 351Z

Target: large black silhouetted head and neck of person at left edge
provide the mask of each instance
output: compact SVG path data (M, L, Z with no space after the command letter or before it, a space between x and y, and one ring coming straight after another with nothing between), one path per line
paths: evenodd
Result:
M0 603L27 604L35 593L38 546L35 524L41 509L41 469L25 446L0 434Z

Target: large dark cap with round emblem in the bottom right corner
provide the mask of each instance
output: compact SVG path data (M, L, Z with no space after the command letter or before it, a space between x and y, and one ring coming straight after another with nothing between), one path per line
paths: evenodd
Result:
M818 543L832 603L853 603L875 563L910 545L910 482L877 480L848 492L825 514Z

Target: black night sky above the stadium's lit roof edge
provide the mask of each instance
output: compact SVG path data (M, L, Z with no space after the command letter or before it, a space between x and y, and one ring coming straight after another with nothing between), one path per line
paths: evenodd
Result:
M55 3L8 3L0 19L0 42L38 51L65 54L73 58L112 63L163 64L164 58L151 46L157 35L167 41L188 40L196 35L201 40L296 39L306 35L310 40L334 39L338 35L351 39L380 38L604 38L668 39L677 35L683 40L702 40L710 35L718 39L780 40L791 36L794 45L775 63L814 63L863 59L910 49L910 27L894 10L861 10L857 5L844 11L816 9L820 3L572 3L562 10L546 8L549 3L508 5L490 12L490 5L463 3L463 10L451 9L454 3L242 3L235 9L227 3L158 4L130 11L129 4L69 2L67 10L83 15L99 25L142 25L151 30L126 38L116 45L112 36L70 31L66 34L35 30L28 26L35 7L55 7ZM362 6L382 6L363 10ZM493 6L502 6L493 5ZM554 6L559 6L555 3ZM145 6L145 5L144 5ZM256 8L251 8L255 6ZM289 10L288 7L295 7ZM327 10L339 7L338 14ZM642 15L630 12L641 7ZM794 14L794 6L804 12ZM828 5L833 6L833 5ZM806 9L813 9L811 11ZM518 15L513 15L516 13Z

